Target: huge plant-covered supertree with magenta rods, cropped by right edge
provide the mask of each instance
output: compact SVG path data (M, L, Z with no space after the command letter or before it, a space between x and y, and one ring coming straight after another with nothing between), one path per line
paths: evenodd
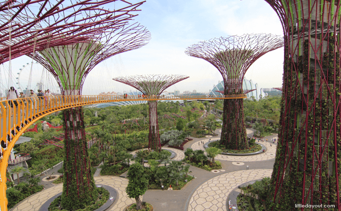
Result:
M266 2L278 14L285 37L269 200L277 204L276 210L293 209L295 204L334 205L341 210L340 2Z

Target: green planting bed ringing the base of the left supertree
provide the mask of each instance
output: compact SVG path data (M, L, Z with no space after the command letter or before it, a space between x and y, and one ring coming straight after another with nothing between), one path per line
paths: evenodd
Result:
M107 202L107 200L109 199L109 195L110 195L109 192L104 188L96 188L96 189L98 192L98 198L95 201L95 203L86 208L77 209L77 211L93 211L101 207L105 202ZM51 202L50 206L48 207L48 210L49 211L67 211L66 209L63 209L62 207L60 207L61 200L62 200L62 196L55 198Z

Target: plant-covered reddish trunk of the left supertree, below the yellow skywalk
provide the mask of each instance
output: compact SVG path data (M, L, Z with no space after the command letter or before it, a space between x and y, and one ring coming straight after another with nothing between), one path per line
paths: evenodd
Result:
M97 199L91 173L88 145L82 107L68 108L64 112L64 183L62 206L65 209L86 207Z

